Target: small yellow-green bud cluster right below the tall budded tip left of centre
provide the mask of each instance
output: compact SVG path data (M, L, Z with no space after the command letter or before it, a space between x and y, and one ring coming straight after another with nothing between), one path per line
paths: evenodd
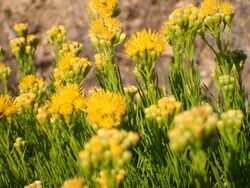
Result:
M83 45L76 41L67 41L62 44L62 49L60 50L60 57L63 57L66 54L73 54L78 56L82 51Z

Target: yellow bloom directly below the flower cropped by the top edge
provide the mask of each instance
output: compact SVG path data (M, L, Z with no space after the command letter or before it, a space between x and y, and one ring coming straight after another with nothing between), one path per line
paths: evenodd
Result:
M104 19L97 19L91 22L90 37L98 40L111 41L115 37L119 37L122 31L122 25L116 19L107 17Z

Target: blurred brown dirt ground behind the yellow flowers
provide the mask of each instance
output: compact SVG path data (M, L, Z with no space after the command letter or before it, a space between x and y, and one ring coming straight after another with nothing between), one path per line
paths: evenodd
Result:
M159 29L162 23L175 7L181 7L187 3L198 5L199 0L120 0L119 7L122 10L120 21L123 23L124 32L131 33L143 28ZM233 0L236 14L232 29L231 46L244 49L250 54L250 0ZM93 60L94 47L90 45L88 37L89 19L85 11L86 0L0 0L0 45L7 50L5 62L12 68L11 85L16 85L18 71L16 62L10 54L9 40L13 38L11 26L17 22L30 24L31 33L37 34L40 40L36 52L36 66L38 74L44 78L52 74L53 54L49 46L46 31L54 25L62 24L67 29L67 38L77 40L84 44L81 56ZM214 59L210 52L204 48L204 44L197 44L197 60L201 67L202 81L211 85L211 70L214 68ZM117 55L117 63L120 67L125 85L135 83L131 60L124 54L120 47ZM171 50L167 50L158 63L157 71L160 75L160 83L164 82L164 76L168 70ZM250 63L250 62L249 62ZM246 64L244 80L250 83L250 66ZM248 68L249 67L249 68ZM94 85L93 70L86 80L87 87ZM248 90L250 85L247 85Z

